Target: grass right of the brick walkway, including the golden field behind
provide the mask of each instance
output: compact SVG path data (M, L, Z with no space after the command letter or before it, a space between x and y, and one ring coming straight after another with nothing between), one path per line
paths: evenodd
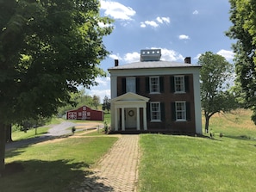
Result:
M256 128L250 111L215 115L210 129L214 139L141 135L139 191L256 191Z

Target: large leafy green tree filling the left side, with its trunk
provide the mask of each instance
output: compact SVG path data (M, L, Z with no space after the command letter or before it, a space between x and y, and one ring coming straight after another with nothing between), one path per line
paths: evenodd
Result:
M95 0L0 0L0 172L6 125L50 117L105 76L111 22Z

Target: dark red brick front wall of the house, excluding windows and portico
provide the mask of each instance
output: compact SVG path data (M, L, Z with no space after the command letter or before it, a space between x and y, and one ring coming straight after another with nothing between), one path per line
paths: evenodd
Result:
M180 74L181 76L183 74ZM157 76L155 74L154 76ZM149 77L149 76L148 76ZM147 131L148 132L165 132L165 133L196 133L195 123L195 104L194 104L194 87L193 75L185 74L186 78L186 91L184 93L175 93L173 91L172 77L173 75L159 76L160 93L151 94L147 88L147 76L136 77L136 94L150 98L149 102L161 103L161 121L150 121L149 102L147 103ZM117 77L117 96L126 93L125 90L126 77ZM187 121L176 121L173 117L175 113L172 108L173 103L176 101L184 101L187 105ZM142 108L140 108L140 117L142 116ZM140 127L143 127L143 122L140 121Z

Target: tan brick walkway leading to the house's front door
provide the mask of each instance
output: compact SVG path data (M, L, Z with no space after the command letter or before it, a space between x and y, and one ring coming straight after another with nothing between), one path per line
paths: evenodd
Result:
M122 135L76 192L135 192L138 164L139 135Z

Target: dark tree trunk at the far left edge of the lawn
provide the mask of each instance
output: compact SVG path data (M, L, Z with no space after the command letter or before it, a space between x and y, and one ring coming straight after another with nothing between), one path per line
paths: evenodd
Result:
M0 122L0 175L5 168L4 158L5 158L5 134L6 127Z

